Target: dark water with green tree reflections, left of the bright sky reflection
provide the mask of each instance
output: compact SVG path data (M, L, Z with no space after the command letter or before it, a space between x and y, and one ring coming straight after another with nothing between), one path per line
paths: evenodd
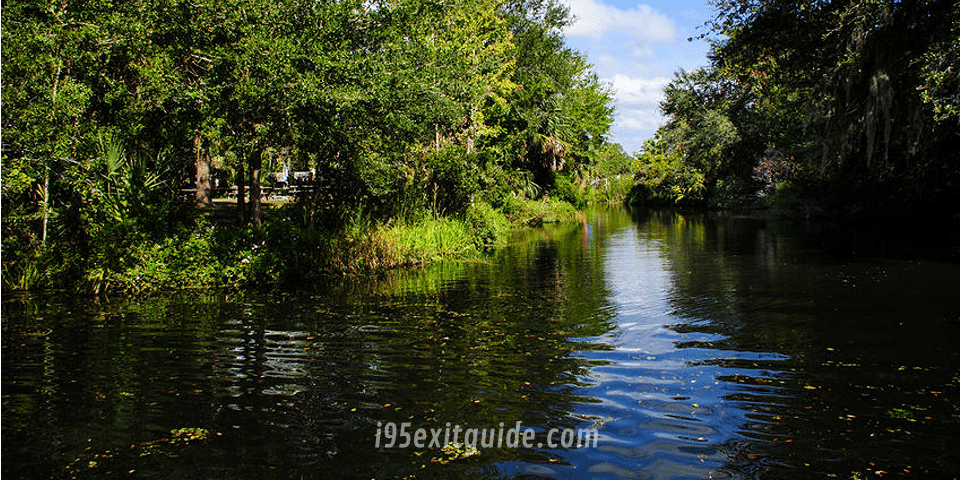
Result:
M495 266L272 295L4 298L4 476L466 478L548 464L537 449L459 458L376 448L375 435L381 422L584 423L570 412L592 401L575 393L589 363L570 354L594 346L570 338L610 315L602 270L568 240L580 231L528 232Z

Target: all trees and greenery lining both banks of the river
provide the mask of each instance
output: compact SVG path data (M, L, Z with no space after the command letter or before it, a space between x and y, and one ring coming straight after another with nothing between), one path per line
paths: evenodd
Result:
M3 288L469 257L628 193L957 219L960 4L713 6L708 66L631 156L556 0L6 2ZM267 202L288 172L307 188Z

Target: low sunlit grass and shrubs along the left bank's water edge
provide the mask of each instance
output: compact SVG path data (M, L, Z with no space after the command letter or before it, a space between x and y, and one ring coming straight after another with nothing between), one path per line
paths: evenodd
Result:
M511 197L459 215L376 219L353 213L336 229L308 228L294 203L264 210L260 227L238 227L232 205L195 211L163 235L126 231L86 258L49 249L3 272L4 290L149 294L194 288L296 284L330 275L376 274L445 260L482 258L511 231L582 218L571 204Z

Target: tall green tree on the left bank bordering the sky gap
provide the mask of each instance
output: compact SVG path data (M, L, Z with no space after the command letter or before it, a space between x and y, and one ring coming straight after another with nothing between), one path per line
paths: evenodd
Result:
M612 123L612 95L579 53L564 46L563 7L549 2L511 5L517 59L507 106L491 115L497 135L489 144L509 152L510 166L534 174L549 189L555 172L594 165L590 150L604 145ZM527 192L528 197L533 197Z

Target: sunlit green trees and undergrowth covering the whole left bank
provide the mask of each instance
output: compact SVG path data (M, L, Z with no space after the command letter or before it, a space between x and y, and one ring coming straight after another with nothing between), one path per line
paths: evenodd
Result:
M551 0L4 2L4 288L376 270L623 196L570 20ZM281 170L310 188L267 208Z

